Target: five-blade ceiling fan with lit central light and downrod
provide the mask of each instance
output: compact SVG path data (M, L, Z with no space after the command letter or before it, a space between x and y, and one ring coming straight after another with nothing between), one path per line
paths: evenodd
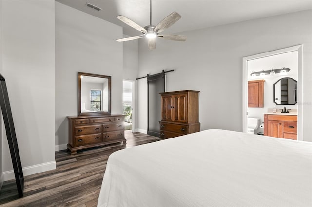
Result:
M173 12L170 15L168 15L166 18L164 18L162 21L160 21L157 24L157 26L152 25L152 0L150 0L150 25L141 27L136 22L132 21L131 19L125 16L122 16L122 15L117 16L117 19L126 23L130 27L133 27L134 29L142 32L143 34L139 36L132 36L132 37L117 39L116 41L123 42L123 41L129 41L129 40L140 39L140 38L146 37L148 38L148 47L151 50L156 48L156 37L169 39L169 40L176 40L176 41L185 41L187 37L183 35L161 35L160 34L162 31L164 31L165 29L169 28L171 25L176 23L180 18L181 18L181 15L179 15L177 12Z

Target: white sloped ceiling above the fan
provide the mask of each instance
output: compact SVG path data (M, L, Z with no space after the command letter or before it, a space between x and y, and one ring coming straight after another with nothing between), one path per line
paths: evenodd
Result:
M141 33L116 18L123 15L144 27L150 24L149 0L57 0L65 5L123 27L129 36ZM96 11L85 6L102 8ZM152 0L152 24L157 25L173 11L182 18L164 31L173 34L261 17L312 9L312 0Z

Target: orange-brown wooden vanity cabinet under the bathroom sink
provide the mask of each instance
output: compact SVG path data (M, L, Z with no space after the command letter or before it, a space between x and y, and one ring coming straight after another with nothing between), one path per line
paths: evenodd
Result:
M297 115L264 114L264 135L297 140Z

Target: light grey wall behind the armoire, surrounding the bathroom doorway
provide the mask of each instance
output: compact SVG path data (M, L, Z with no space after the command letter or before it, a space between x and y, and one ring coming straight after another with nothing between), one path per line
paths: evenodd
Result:
M156 50L139 40L139 76L176 69L167 73L167 91L200 91L201 130L242 131L243 57L303 44L303 140L312 141L312 10L179 34L187 41L157 39ZM142 96L146 100L146 93ZM146 120L145 111L139 120Z

